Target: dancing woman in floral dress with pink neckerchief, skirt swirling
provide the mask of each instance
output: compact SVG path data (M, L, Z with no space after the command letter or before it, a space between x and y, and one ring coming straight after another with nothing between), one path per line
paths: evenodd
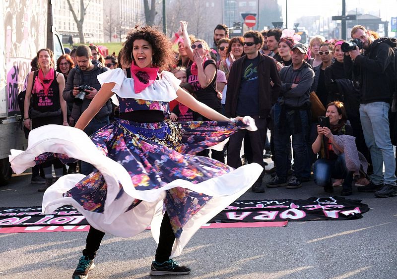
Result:
M163 33L150 27L133 30L124 43L122 60L131 68L98 76L102 87L75 128L42 127L30 135L25 152L12 150L10 157L17 173L52 156L80 159L96 168L85 177L62 177L43 197L45 213L72 205L91 225L74 279L87 278L106 232L131 237L149 224L158 242L150 274L190 273L189 267L171 258L180 255L199 227L251 187L263 170L258 164L233 170L193 156L238 129L255 125L247 117L230 121L181 89L180 81L164 70L173 63L173 54ZM81 130L113 94L121 119L90 140ZM168 102L174 99L215 121L164 121ZM41 154L43 150L51 153Z

